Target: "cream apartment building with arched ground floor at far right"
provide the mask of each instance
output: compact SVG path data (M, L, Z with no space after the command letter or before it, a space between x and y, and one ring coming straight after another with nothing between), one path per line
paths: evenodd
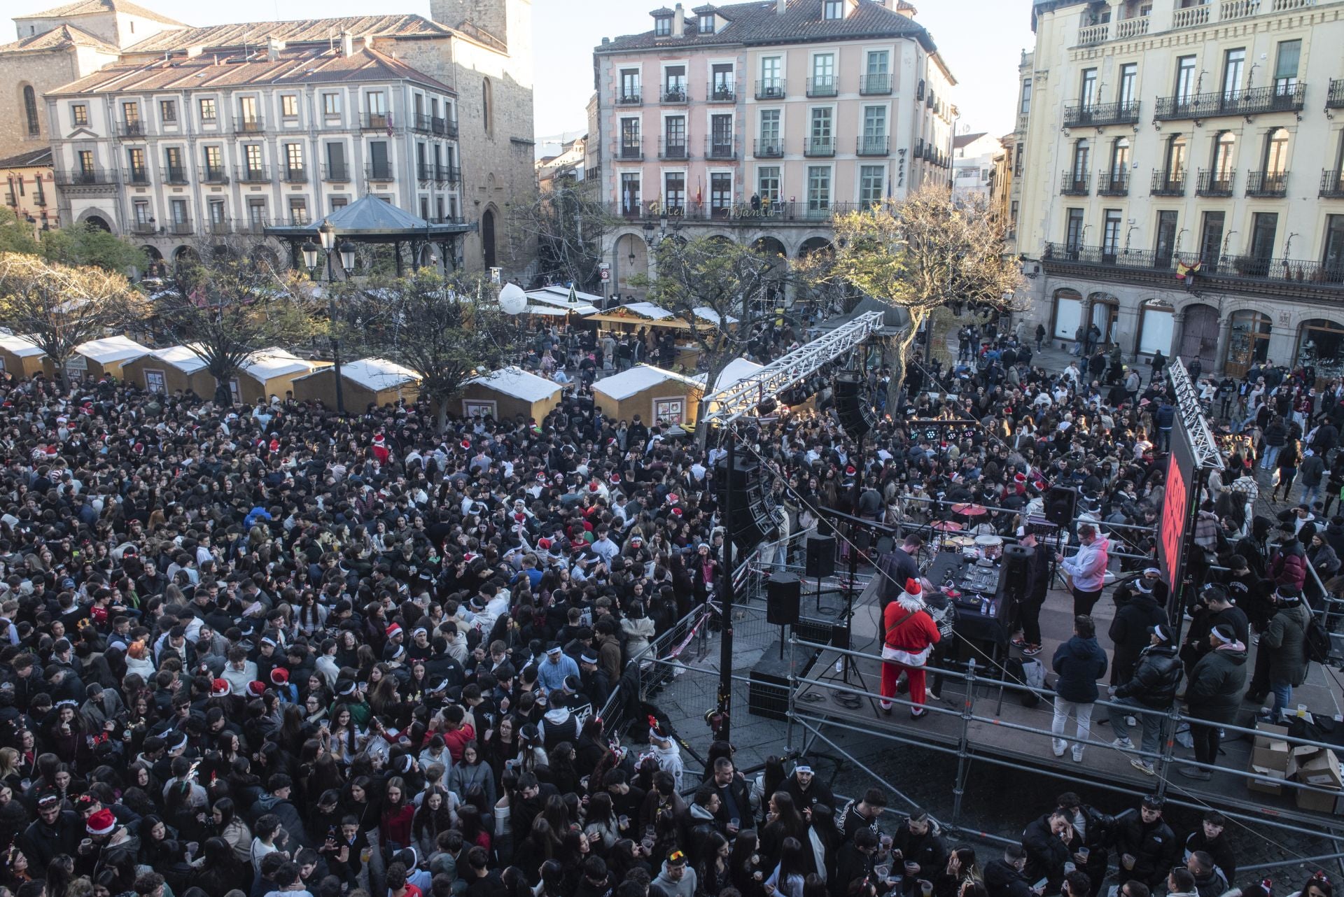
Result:
M1030 329L1344 373L1344 1L1036 0L1032 24L1009 191Z

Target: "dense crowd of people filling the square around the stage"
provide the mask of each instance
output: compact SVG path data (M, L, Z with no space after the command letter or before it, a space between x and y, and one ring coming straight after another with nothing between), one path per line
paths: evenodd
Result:
M797 338L778 329L753 352ZM446 432L427 403L340 418L292 397L219 407L108 376L66 391L3 375L4 896L1095 897L1110 853L1122 897L1226 890L1226 822L1211 814L1177 842L1156 798L1110 818L1062 795L1020 847L989 858L948 843L927 814L890 824L880 790L836 798L805 760L749 780L715 743L698 784L659 718L633 743L606 730L626 665L714 595L732 557L714 489L722 446L603 414L599 372L661 350L645 336L603 342L539 332L526 363L567 384L562 404ZM888 376L868 372L884 407ZM1079 619L1055 666L1079 726L1067 739L1059 725L1056 753L1074 744L1081 759L1081 708L1106 673L1087 602L1107 564L1137 572L1152 555L1150 534L1125 525L1161 506L1163 377L1129 389L1077 365L1047 372L995 336L948 368L913 367L903 395L862 450L825 388L814 411L739 431L765 462L781 534L827 508L919 532L948 516L939 502L978 502L993 509L978 526L1013 536L1046 483L1077 486L1083 524L1062 553ZM923 419L948 428L910 423ZM1344 538L1344 518L1321 526L1309 505L1254 516L1250 432L1230 436L1245 450L1211 483L1198 540L1230 571L1200 594L1183 645L1164 636L1165 584L1150 573L1116 589L1110 630L1114 694L1134 701L1145 747L1144 710L1169 706L1185 671L1208 763L1251 628L1267 658L1251 692L1289 705L1304 595L1321 598L1306 564ZM1124 548L1118 564L1107 544ZM918 549L907 540L883 560L915 565L888 611L930 612ZM1047 565L1032 571L1028 655L1050 584ZM899 669L922 693L929 651L887 646L910 655ZM1305 892L1332 897L1318 878Z

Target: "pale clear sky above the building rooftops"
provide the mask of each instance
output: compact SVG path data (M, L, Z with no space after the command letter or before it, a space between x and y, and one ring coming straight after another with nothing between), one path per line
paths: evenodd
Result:
M39 12L63 0L5 0L0 15ZM429 16L429 0L137 0L167 16L195 26L267 19L417 12ZM671 5L671 0L668 0ZM1007 133L1013 126L1017 60L1030 47L1030 0L914 0L917 21L933 34L938 50L957 77L954 102L961 125L970 130ZM652 28L649 9L663 0L534 0L536 63L536 134L586 128L585 105L593 94L591 48L614 38ZM696 5L688 3L688 7ZM13 23L0 20L0 43L13 40Z

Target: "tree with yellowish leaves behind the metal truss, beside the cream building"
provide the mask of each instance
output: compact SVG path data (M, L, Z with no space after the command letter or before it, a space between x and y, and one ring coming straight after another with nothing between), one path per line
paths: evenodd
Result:
M919 325L948 303L1011 309L1021 275L1005 254L1004 227L984 197L954 199L926 187L903 200L836 215L836 250L808 274L845 282L910 312L910 330L887 346L891 407ZM930 332L931 334L931 332Z

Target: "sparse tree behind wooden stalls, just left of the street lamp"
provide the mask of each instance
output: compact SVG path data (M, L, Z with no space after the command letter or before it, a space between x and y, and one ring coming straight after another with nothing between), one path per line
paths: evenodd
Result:
M228 381L258 350L294 346L323 329L313 283L281 269L262 243L208 247L179 265L153 313L177 342L200 356L215 379L215 403L233 404Z

